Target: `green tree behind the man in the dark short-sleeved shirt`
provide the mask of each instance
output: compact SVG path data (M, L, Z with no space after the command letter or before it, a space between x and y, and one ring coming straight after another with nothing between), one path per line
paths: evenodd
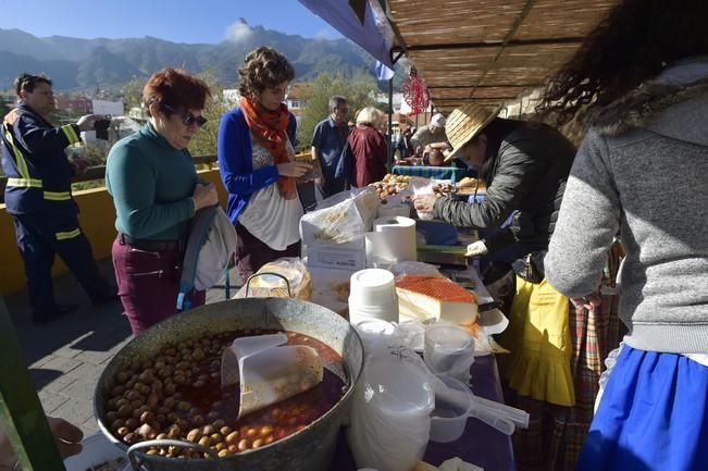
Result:
M330 97L339 95L347 99L349 121L353 122L359 110L375 106L376 92L376 82L370 75L359 74L350 79L328 72L318 75L312 86L302 91L305 109L298 124L298 141L301 146L310 146L314 127L330 115Z

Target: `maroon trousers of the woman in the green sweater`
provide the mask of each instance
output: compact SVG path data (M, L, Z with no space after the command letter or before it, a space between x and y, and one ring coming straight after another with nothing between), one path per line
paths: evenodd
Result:
M119 296L138 335L152 324L177 313L177 293L184 253L178 249L145 251L113 241L113 269ZM207 292L188 295L191 307L202 306Z

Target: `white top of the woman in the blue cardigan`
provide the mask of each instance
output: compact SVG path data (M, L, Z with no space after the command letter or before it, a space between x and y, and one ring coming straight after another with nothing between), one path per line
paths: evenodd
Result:
M273 165L271 152L259 145L251 136L253 149L253 170ZM295 160L295 149L287 141L287 153ZM238 216L238 222L254 237L273 250L285 250L300 240L300 218L302 204L298 197L285 199L277 184L269 185L251 195L248 206Z

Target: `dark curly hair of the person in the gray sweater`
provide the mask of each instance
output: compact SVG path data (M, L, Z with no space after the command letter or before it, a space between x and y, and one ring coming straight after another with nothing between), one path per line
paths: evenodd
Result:
M668 64L708 54L706 25L706 0L623 0L546 80L536 113L563 125L621 98Z

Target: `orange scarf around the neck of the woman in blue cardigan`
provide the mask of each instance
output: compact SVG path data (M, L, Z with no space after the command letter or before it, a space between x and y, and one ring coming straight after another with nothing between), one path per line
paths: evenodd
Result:
M288 163L290 158L287 154L287 125L290 122L290 113L287 106L281 103L275 111L265 110L246 97L240 99L240 108L244 111L246 124L256 141L268 149L273 156L275 164ZM297 198L295 178L281 176L277 179L277 187L285 199Z

